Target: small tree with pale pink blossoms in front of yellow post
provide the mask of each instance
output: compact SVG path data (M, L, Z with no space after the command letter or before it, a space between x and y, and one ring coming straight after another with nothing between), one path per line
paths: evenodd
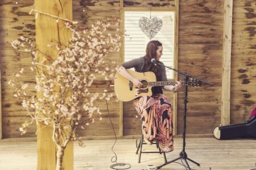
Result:
M31 71L36 71L36 95L27 95L28 84L21 83L24 69L20 69L9 84L15 87L15 97L22 100L30 121L22 124L20 131L26 133L32 123L41 123L53 128L52 139L56 144L56 169L61 169L65 147L71 139L78 139L77 128L85 129L94 121L101 120L100 108L95 102L109 99L105 92L90 92L90 86L96 75L105 76L105 80L114 78L114 69L105 62L109 52L118 51L120 36L106 33L108 27L115 24L116 18L99 20L91 28L80 30L71 22L65 23L72 32L67 44L49 42L55 45L57 59L49 60L47 54L36 48L34 39L20 37L11 43L15 50L30 53L32 57ZM43 59L40 58L42 57ZM97 114L95 114L97 113Z

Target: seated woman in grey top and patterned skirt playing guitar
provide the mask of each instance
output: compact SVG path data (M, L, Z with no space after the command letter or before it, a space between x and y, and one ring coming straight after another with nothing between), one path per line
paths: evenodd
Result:
M163 54L163 46L159 41L150 41L147 44L146 55L135 58L131 61L122 63L117 68L117 72L126 79L129 79L138 89L143 87L133 75L126 69L133 68L139 73L152 71L155 73L157 81L167 81L166 70L164 66L156 66L151 59L159 61ZM163 64L163 63L162 63ZM174 150L174 140L172 137L172 107L168 97L163 95L163 90L178 91L182 84L176 82L174 86L156 86L152 87L152 96L139 96L134 99L134 106L142 120L142 132L144 141L152 145L152 141L158 141L159 147L164 152Z

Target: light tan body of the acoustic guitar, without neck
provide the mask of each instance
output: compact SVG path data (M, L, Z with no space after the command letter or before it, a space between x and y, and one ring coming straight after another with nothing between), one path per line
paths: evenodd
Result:
M151 96L152 91L151 88L148 86L147 82L155 82L156 76L153 72L148 71L144 73L138 73L133 70L127 69L128 73L143 83L143 87L138 90L135 89L135 86L130 80L123 77L121 74L115 74L114 84L115 84L115 95L121 101L130 101L139 96Z

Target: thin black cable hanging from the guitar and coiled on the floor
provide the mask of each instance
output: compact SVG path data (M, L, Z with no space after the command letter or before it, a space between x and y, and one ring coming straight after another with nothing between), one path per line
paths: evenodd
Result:
M108 86L108 88L106 89L106 95L108 95L109 87L111 87L111 86L114 86L114 85ZM107 107L107 109L108 109L108 114L109 114L108 100L106 100L106 107ZM114 125L113 125L112 120L111 120L111 118L110 118L110 114L109 114L109 120L110 120L110 122L111 122L112 129L113 129L114 134L115 134ZM129 169L129 168L131 168L131 165L130 165L130 164L126 164L126 163L117 163L117 154L115 154L115 152L114 152L114 150L113 150L113 148L114 148L114 146L115 146L115 143L117 143L117 135L116 135L116 134L115 134L115 142L114 142L114 145L113 145L112 148L111 148L112 152L113 152L114 155L115 155L115 156L113 156L113 157L111 158L111 162L113 162L113 163L115 163L115 164L111 165L110 168L112 168L112 169ZM115 168L115 167L117 167L117 166L123 167L123 166L125 166L125 165L128 165L129 167L127 167L127 168Z

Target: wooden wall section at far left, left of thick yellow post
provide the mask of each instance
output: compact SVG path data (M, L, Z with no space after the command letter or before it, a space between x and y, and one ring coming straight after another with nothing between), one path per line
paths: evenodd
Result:
M28 95L35 95L33 90L35 84L35 74L29 67L31 57L20 51L15 53L11 47L11 41L19 39L20 36L32 37L35 35L35 18L29 15L34 1L1 1L0 2L0 20L1 20L1 74L2 74L2 136L3 138L22 138L35 137L36 126L31 126L27 134L20 135L19 128L21 124L30 120L27 112L22 107L21 101L14 97L14 89L7 82L11 76L22 67L25 69L23 82L30 84ZM22 58L20 58L22 56Z

